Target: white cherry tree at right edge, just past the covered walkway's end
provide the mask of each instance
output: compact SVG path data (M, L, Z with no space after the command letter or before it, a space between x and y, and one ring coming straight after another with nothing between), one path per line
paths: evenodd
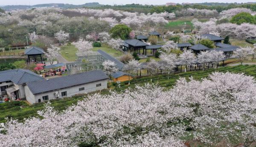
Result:
M246 46L246 47L240 47L234 51L234 57L239 58L240 63L242 64L244 60L249 58L249 55L253 55L253 48Z

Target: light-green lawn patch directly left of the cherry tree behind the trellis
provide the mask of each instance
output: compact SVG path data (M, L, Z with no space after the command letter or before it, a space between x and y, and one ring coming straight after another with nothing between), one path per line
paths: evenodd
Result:
M77 48L74 45L64 45L61 47L61 55L67 61L76 61Z

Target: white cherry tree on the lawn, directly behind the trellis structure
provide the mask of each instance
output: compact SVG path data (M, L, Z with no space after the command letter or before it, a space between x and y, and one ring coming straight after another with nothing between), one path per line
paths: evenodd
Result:
M78 49L78 52L80 52L84 56L88 56L88 53L93 49L93 43L86 41L82 38L79 39L79 41L75 42L74 45Z

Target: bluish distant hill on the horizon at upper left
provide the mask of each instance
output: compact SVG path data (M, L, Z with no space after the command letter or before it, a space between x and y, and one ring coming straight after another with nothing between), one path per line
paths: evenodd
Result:
M80 7L99 7L102 6L99 3L85 3L82 5L72 5L72 4L64 4L64 3L46 3L46 4L38 4L38 5L8 5L8 6L0 6L1 9L4 10L15 10L15 9L32 9L32 8L42 8L42 7L57 7L57 8L80 8Z

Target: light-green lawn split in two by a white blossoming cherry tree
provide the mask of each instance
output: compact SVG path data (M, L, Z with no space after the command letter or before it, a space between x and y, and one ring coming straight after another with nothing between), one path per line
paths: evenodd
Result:
M109 55L113 57L120 57L123 55L122 52L117 51L115 49L111 49L108 47L107 44L102 44L102 47L93 47L92 51L97 52L97 50L101 49L104 52L107 52ZM74 45L64 45L61 47L61 55L64 57L67 61L76 61L77 56L76 56L77 48Z

